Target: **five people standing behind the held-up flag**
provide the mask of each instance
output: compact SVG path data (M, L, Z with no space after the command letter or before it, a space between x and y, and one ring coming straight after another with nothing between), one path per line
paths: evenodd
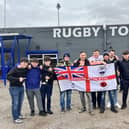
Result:
M63 64L61 66L89 66L89 65L101 65L101 64L109 64L109 63L114 63L117 64L118 62L118 57L115 55L115 51L111 50L110 52L106 52L103 55L100 55L99 50L94 50L93 55L90 58L87 58L87 54L85 51L80 52L80 57L79 59L75 60L73 63L70 63L70 54L66 53L64 54L62 62ZM115 65L116 66L116 65ZM117 67L116 67L116 74L117 74ZM117 79L118 80L118 79ZM61 111L65 111L65 94L66 94L66 109L69 111L71 109L71 90L63 91L61 92L61 99L60 99L60 105L61 105ZM93 110L96 109L97 107L100 108L100 113L104 113L105 111L105 95L106 92L83 92L79 91L80 94L80 100L82 104L81 111L79 113L85 112L86 109L86 100L85 100L85 94L87 96L87 101L88 101L88 112L91 115L94 115ZM117 113L118 111L116 110L116 107L120 108L120 105L117 101L117 90L113 91L108 91L109 94L109 103L110 103L110 108L111 111L114 113Z

